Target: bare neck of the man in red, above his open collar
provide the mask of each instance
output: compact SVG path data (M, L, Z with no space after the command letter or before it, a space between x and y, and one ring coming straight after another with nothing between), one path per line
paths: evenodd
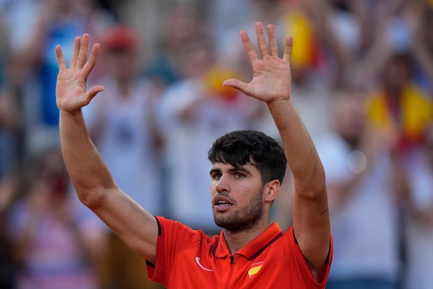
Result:
M270 227L269 219L260 222L256 227L249 230L233 231L224 229L224 237L226 238L228 249L233 255L241 248L253 241L260 234L265 232Z

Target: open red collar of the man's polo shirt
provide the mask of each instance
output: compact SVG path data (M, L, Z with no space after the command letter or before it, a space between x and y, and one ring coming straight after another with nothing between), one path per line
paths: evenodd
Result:
M256 239L250 241L247 245L240 248L236 254L244 255L247 259L252 260L256 258L257 255L260 255L265 249L270 246L274 241L276 241L279 237L283 235L279 225L277 223L272 223L270 227L268 227L265 232L258 235ZM227 255L231 255L230 250L228 249L226 238L224 237L224 231L221 231L219 234L219 238L214 245L214 255L217 258L223 258Z

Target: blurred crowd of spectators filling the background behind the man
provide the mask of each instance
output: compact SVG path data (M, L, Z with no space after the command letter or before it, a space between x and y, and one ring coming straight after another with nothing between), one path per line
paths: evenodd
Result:
M75 36L101 43L89 84L105 91L83 113L120 188L218 234L212 142L235 129L279 139L265 104L221 85L251 77L239 32L256 21L281 50L294 38L291 94L327 176L327 288L432 288L431 0L0 0L0 288L161 288L75 197L55 45L67 58ZM273 216L287 228L290 171L283 190Z

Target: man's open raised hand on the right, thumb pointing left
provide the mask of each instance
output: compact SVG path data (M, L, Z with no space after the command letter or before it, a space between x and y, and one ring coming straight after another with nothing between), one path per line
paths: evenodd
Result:
M260 59L249 40L247 31L240 32L240 38L247 52L249 61L253 66L253 79L250 83L244 83L237 79L228 79L223 85L235 87L251 97L270 104L273 101L290 99L291 69L289 65L293 39L286 39L286 49L283 58L278 56L277 38L274 25L267 25L269 47L263 34L263 24L256 23L257 43L262 55Z

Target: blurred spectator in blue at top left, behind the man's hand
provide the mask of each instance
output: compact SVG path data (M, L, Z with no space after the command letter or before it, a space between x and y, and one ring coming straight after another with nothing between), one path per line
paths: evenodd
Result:
M36 23L26 27L25 41L15 41L20 46L13 47L10 85L23 96L27 152L36 153L47 145L59 145L54 46L60 43L71 51L75 35L85 31L97 35L112 19L93 1L82 0L37 1L29 17L36 17Z

